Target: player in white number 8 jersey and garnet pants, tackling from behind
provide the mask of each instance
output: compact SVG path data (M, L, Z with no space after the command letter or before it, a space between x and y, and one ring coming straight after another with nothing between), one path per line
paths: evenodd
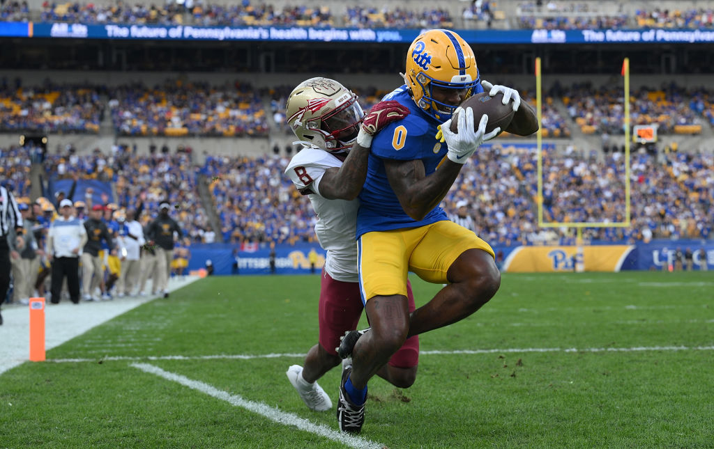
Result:
M303 148L285 172L303 195L308 195L318 222L315 233L327 257L321 276L318 344L303 366L286 372L306 405L314 411L332 407L330 397L316 382L341 363L340 337L356 329L363 311L357 275L355 198L366 178L372 136L409 110L393 101L377 103L364 116L357 96L337 81L311 78L288 97L288 125ZM415 309L411 287L411 310ZM408 339L378 375L399 388L416 379L419 341Z

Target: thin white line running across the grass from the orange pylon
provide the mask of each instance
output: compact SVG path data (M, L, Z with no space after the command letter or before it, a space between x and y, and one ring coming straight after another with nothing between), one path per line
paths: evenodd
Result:
M419 351L420 356L450 356L456 354L491 354L491 353L538 353L538 352L643 352L643 351L714 351L714 346L633 346L630 348L500 348L500 349L461 349L456 351ZM253 360L256 358L303 358L305 353L269 353L269 354L214 354L211 356L108 356L96 358L48 358L52 363L79 363L102 361L139 361L139 360Z

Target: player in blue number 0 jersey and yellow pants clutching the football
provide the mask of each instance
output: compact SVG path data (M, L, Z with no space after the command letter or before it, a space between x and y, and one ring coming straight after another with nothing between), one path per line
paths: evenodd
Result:
M452 133L451 116L466 98L487 88L491 95L502 92L504 104L512 102L513 120L531 119L518 113L517 91L479 79L473 50L453 31L418 36L403 76L406 84L383 99L396 100L411 113L374 136L359 195L358 271L371 329L348 334L338 351L343 357L351 354L353 361L343 371L337 413L340 429L350 433L361 431L367 382L409 336L466 318L501 285L491 246L438 207L463 164L501 130L486 133L488 117L483 115L477 127L467 108L458 114L458 133ZM410 271L447 284L411 314Z

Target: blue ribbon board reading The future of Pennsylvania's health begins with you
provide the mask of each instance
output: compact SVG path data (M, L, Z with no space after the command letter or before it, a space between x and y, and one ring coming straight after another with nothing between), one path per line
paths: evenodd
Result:
M0 37L410 43L423 29L0 23ZM454 30L468 43L713 43L710 29Z

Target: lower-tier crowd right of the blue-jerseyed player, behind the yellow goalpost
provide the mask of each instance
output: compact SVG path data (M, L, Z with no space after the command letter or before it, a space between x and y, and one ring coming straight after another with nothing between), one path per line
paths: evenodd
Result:
M580 158L573 148L543 157L545 222L623 222L623 153L601 160L596 151ZM466 201L474 229L493 244L568 244L573 229L538 229L538 173L535 149L493 145L464 167L445 202L452 215ZM664 162L645 152L631 158L632 226L585 229L588 240L649 241L653 238L708 238L714 226L714 157L671 153ZM488 180L488 182L483 182Z

